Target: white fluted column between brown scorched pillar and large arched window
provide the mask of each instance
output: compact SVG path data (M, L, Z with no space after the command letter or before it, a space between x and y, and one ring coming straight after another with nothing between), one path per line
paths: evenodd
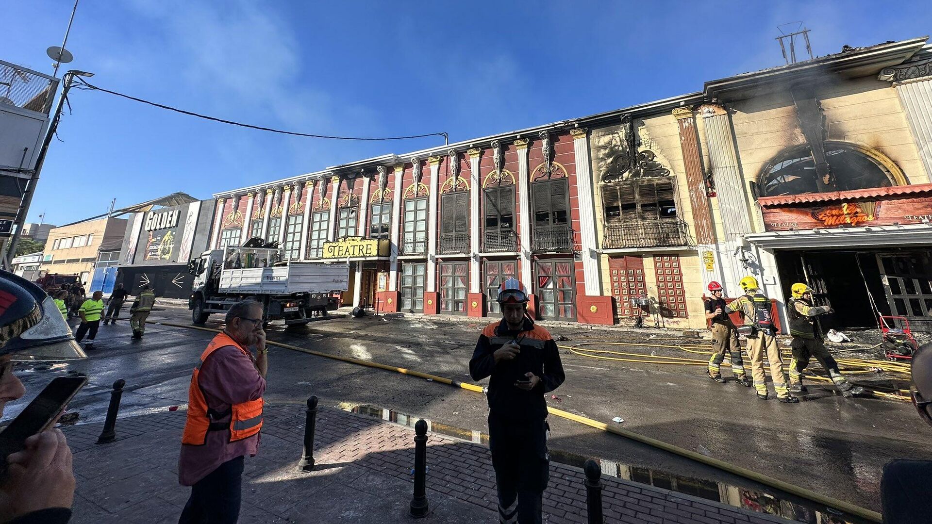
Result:
M751 232L750 216L754 211L747 206L744 176L734 150L732 121L728 111L719 104L706 103L699 108L699 113L705 118L709 163L715 176L721 223L725 229L722 246L724 253L721 253L724 282L721 284L725 287L726 295L736 296L737 283L746 276L747 270L738 261L735 252L743 250L741 237Z

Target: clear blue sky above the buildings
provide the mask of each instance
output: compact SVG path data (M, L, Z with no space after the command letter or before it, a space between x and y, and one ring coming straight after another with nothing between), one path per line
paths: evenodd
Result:
M9 0L0 59L51 73L70 0ZM816 55L932 32L927 1L298 2L81 0L68 48L90 81L216 117L453 142L700 90L779 65L776 25ZM63 70L63 69L62 69ZM73 91L29 221L63 224L439 144L251 131Z

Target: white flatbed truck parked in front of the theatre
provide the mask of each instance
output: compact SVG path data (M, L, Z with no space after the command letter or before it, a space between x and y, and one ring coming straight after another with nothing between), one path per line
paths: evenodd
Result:
M310 322L326 311L332 292L349 289L349 264L283 260L278 248L226 246L205 251L188 264L194 286L188 299L191 320L204 324L211 313L253 298L263 305L265 324Z

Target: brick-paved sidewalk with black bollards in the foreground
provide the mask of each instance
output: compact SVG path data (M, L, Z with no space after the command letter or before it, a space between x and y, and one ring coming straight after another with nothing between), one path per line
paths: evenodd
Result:
M304 406L267 405L258 456L246 459L240 522L415 521L414 431L322 408L317 418L317 468L295 472L304 434ZM62 428L75 454L72 522L174 522L189 489L177 480L184 411L117 420L117 442L97 446L100 424ZM495 476L487 448L428 433L428 500L422 521L498 522ZM583 472L551 463L544 520L586 522ZM716 524L788 522L682 493L603 477L606 522Z

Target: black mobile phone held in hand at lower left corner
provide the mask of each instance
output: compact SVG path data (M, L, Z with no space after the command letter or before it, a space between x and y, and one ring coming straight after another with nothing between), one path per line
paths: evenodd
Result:
M48 383L22 412L0 432L0 477L7 473L7 456L21 451L27 438L48 430L87 377L59 377Z

